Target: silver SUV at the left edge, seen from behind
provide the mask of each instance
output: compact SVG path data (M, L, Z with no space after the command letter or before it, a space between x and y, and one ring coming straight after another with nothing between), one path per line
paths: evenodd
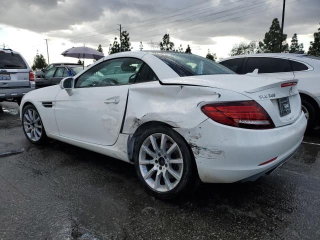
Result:
M35 89L34 75L20 53L0 49L0 102L21 102L22 96Z

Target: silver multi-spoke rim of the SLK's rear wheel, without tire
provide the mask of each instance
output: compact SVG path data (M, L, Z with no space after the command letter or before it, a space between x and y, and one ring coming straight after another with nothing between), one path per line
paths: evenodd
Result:
M183 157L177 143L164 133L149 135L139 150L139 169L144 181L154 190L172 190L183 172Z

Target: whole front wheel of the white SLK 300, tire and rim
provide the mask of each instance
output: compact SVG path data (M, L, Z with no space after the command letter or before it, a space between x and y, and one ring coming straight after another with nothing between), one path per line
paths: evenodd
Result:
M41 117L35 106L29 104L22 110L22 129L26 138L33 144L42 144L47 136Z

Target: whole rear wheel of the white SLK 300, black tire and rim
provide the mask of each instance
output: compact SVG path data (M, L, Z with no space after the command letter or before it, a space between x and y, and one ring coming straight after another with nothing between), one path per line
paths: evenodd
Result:
M195 164L184 139L170 127L145 130L133 153L135 170L146 190L161 199L194 190Z

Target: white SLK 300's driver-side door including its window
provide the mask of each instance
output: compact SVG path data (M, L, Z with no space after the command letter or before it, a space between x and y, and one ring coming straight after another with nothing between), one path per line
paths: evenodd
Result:
M59 134L112 145L120 132L129 84L142 61L115 58L100 62L75 79L73 94L61 89L55 98ZM116 67L115 71L109 68Z

